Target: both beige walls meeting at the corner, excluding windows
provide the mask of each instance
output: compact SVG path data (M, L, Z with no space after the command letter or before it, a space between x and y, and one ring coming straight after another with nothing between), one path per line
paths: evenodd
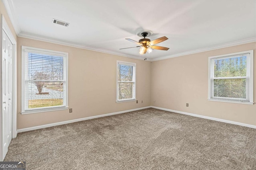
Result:
M21 45L69 53L68 110L21 115ZM18 37L17 129L113 113L146 106L163 107L256 125L256 106L208 101L208 57L254 49L256 43L206 51L161 61L142 61ZM256 54L254 54L256 55ZM116 61L137 64L139 103L116 104ZM256 60L254 60L256 64ZM256 70L254 69L254 77ZM256 78L254 78L256 82ZM256 84L256 83L254 83ZM254 86L254 101L256 101ZM143 104L141 104L143 100ZM154 103L153 101L156 100ZM186 107L189 103L189 107Z

